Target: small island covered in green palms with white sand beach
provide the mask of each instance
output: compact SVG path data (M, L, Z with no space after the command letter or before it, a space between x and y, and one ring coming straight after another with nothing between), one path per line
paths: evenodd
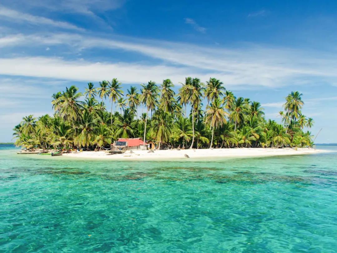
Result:
M170 79L161 84L150 81L141 84L140 90L131 86L125 95L117 79L101 81L98 87L90 82L84 93L75 86L66 87L52 96L54 115L28 115L15 126L14 144L29 151L53 149L68 156L105 158L120 157L106 154L119 142L124 143L124 149L130 147L130 140L137 143L138 153L126 148L123 156L154 157L155 152L166 158L314 152L308 149L313 146L309 129L314 120L302 114L300 92L285 97L280 121L276 122L265 118L259 102L236 97L218 79L202 83L187 77L181 85L176 94ZM109 108L104 100L110 102Z

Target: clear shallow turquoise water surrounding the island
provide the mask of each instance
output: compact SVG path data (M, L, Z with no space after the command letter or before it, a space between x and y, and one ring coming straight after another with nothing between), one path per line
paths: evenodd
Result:
M0 149L0 252L337 249L336 152L111 162Z

